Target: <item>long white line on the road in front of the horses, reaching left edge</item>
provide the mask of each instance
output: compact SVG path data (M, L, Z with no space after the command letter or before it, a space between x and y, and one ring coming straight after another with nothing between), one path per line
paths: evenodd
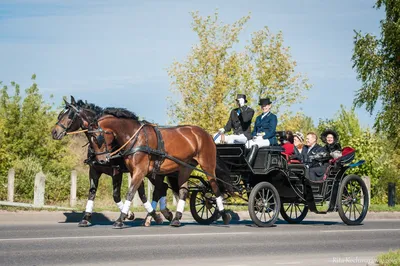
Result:
M142 238L142 237L185 237L185 236L217 236L217 235L251 235L251 232L232 233L190 233L190 234L157 234L157 235L104 235L104 236L60 236L60 237L24 237L3 238L0 242L7 241L38 241L38 240L69 240L69 239L102 239L102 238Z

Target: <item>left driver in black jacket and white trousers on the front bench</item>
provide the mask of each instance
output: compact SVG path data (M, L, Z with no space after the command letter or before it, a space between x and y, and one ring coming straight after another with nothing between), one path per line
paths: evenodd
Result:
M254 116L254 110L246 105L246 95L238 94L236 97L238 108L231 111L229 120L223 128L220 128L218 132L223 134L233 130L232 135L225 136L225 142L227 144L233 143L246 143L247 140L251 139L251 120ZM216 143L220 143L221 139L218 137L215 139Z

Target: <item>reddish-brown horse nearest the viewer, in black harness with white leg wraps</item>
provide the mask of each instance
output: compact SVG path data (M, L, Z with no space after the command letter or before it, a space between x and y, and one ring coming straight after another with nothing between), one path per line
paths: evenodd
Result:
M188 194L187 181L193 171L189 165L200 165L209 174L207 178L217 196L217 206L222 219L225 224L229 223L231 217L224 210L222 196L214 178L216 146L212 137L202 128L197 126L157 128L149 123L140 122L135 114L125 109L108 108L91 130L97 144L94 145L97 160L108 162L115 154L111 151L119 146L120 155L125 159L125 164L131 173L131 186L127 199L114 226L123 227L123 220L133 196L145 176L149 177L151 173L166 175L175 171L179 171L180 199L171 225L180 226ZM179 162L164 156L165 154ZM146 205L145 207L147 208Z

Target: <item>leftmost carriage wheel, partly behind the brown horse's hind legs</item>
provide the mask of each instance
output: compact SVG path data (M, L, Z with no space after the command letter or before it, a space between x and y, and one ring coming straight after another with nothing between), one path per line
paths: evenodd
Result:
M215 195L210 191L193 191L190 196L190 212L199 224L209 225L218 219Z

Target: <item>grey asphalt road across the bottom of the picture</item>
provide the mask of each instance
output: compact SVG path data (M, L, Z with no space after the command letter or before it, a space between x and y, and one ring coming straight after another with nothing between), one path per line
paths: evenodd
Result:
M0 265L367 265L400 248L400 221L308 221L271 228L185 222L122 230L109 223L0 223ZM400 263L400 262L399 262Z

